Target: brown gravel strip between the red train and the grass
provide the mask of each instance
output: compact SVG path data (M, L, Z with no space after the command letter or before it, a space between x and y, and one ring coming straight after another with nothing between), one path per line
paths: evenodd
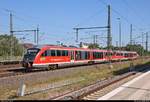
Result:
M76 73L81 70L97 68L100 65L93 66L82 66L82 67L72 67L67 69L58 69L54 71L43 71L43 72L35 72L35 73L27 73L25 75L11 76L0 78L0 88L3 87L19 87L21 81L24 83L32 83L35 84L37 82L46 81L49 78L61 78L62 76L71 75L72 73Z

